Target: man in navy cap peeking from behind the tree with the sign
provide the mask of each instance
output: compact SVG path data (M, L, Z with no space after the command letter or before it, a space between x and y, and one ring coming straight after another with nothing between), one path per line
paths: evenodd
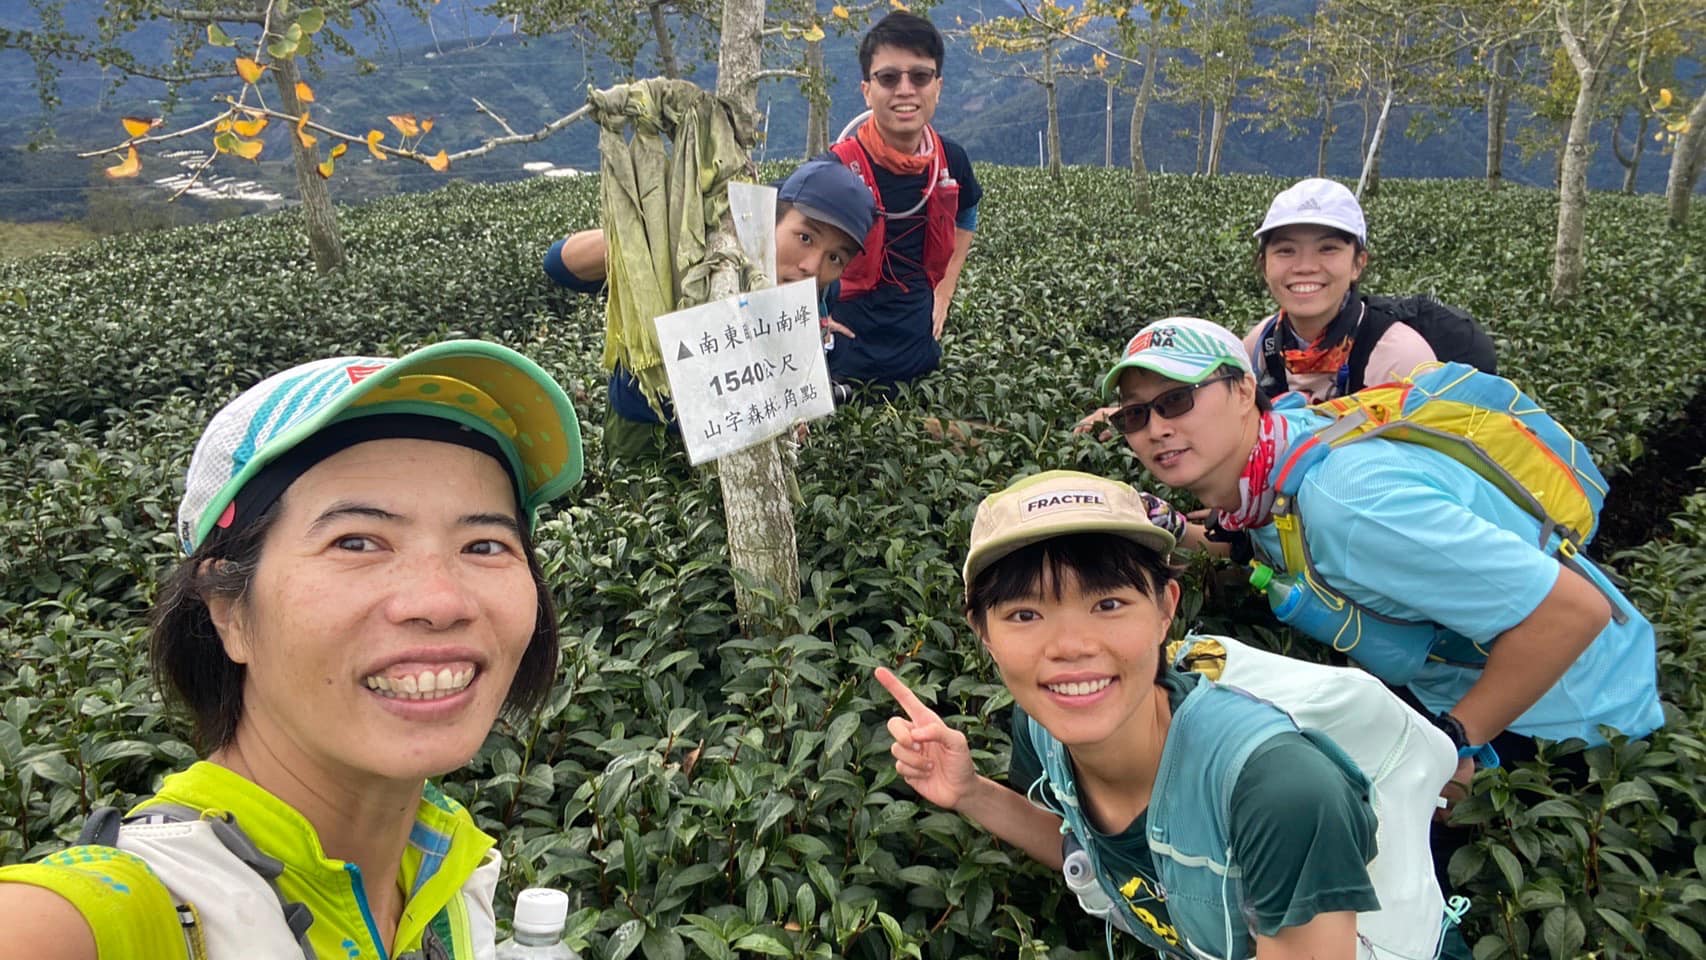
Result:
M819 315L841 271L863 249L875 218L870 191L851 171L834 160L802 164L776 189L776 283L815 278ZM570 290L604 290L604 230L582 230L551 244L544 254L546 275ZM640 392L633 373L611 370L611 406L604 414L607 459L659 455L669 448L669 433L679 433L674 411L665 402L659 418Z

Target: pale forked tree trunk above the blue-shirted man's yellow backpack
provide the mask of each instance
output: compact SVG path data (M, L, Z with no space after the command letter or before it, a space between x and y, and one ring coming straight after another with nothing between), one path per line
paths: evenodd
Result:
M1593 51L1583 49L1570 24L1564 7L1558 7L1558 29L1570 55L1571 67L1576 68L1580 87L1576 89L1576 106L1570 114L1570 133L1564 136L1563 164L1558 171L1558 242L1552 247L1552 304L1563 304L1581 290L1581 275L1587 271L1587 257L1581 251L1587 232L1588 208L1588 157L1593 153L1593 113L1599 107L1600 87L1605 84L1605 53L1617 39L1617 29L1629 10L1628 0L1619 0L1612 10L1605 36Z

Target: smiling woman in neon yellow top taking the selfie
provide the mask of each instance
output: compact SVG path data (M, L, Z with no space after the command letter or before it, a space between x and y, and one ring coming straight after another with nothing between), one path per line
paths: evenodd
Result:
M549 689L531 527L580 472L561 387L491 343L304 363L227 404L150 638L208 759L0 870L10 948L491 957L502 859L426 778Z

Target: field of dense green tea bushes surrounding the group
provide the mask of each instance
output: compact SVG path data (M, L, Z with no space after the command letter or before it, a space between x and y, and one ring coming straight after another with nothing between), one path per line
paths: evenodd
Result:
M870 670L897 667L1005 772L1010 699L955 612L972 508L1025 471L1138 477L1123 447L1070 433L1094 377L1146 321L1264 312L1249 232L1283 184L1157 177L1143 218L1117 172L979 176L945 368L812 426L805 597L763 636L734 624L715 479L599 466L601 305L539 269L551 239L595 222L592 182L345 210L357 266L331 280L290 215L0 261L0 863L193 759L152 692L143 612L206 416L309 356L466 334L558 375L592 447L587 484L541 523L556 692L449 778L502 837L505 897L570 890L589 960L1102 955L1058 882L896 781ZM1551 194L1387 181L1368 215L1365 286L1483 317L1503 370L1595 450L1614 483L1599 552L1660 636L1665 730L1590 752L1587 791L1554 788L1554 750L1484 772L1459 808L1479 829L1450 865L1476 955L1706 957L1706 230L1593 196L1585 293L1554 309ZM1291 648L1208 568L1182 619Z

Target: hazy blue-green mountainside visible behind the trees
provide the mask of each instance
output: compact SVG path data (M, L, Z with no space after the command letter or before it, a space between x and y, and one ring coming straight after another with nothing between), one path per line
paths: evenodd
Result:
M1297 0L1276 0L1276 3L1283 3L1286 12L1295 12L1291 7ZM937 124L943 135L966 145L974 160L1036 164L1037 133L1044 128L1041 87L998 75L998 65L979 58L962 31L954 29L957 22L976 22L995 9L1007 14L1017 10L1017 3L947 0L933 9L931 17L950 34L947 80ZM0 14L0 26L10 29L26 26L14 7L7 10ZM101 3L96 0L65 3L65 15L72 26L92 22L99 10ZM500 133L491 119L474 111L474 99L503 114L515 130L525 131L575 109L589 85L607 85L621 77L621 68L607 60L597 56L585 60L573 38L515 34L510 22L479 14L476 0L444 0L430 7L430 12L432 19L421 20L394 0L375 3L377 29L350 31L351 39L358 41L357 49L377 65L375 72L360 75L348 60L329 60L324 77L310 77L319 94L316 116L348 130L384 128L384 116L391 113L437 116L438 126L432 143L454 152ZM135 49L159 49L167 41L169 32L159 24L150 24L135 34ZM863 109L855 48L853 36L833 38L826 44L827 68L834 75L831 133L839 131L841 124ZM1071 51L1068 58L1087 60L1088 51ZM641 70L645 68L641 63ZM694 67L691 78L699 84L715 82L715 65ZM65 106L53 119L58 143L46 153L26 155L19 148L31 140L39 124L32 84L34 70L27 58L17 51L0 51L0 89L12 92L15 107L10 116L0 119L0 217L15 220L72 217L90 181L101 181L99 162L65 159L63 152L114 143L121 136L118 118L123 113L157 113L159 107L150 106L135 84L114 92L94 68L68 65L61 82ZM181 121L198 116L196 104L213 90L210 85L186 92L176 116ZM1105 119L1102 85L1095 80L1063 80L1059 90L1065 160L1100 164ZM759 155L800 157L807 109L798 89L792 82L766 82L759 90L759 109L768 114L768 140ZM1116 164L1128 162L1129 113L1129 95L1116 97ZM1196 162L1196 142L1194 136L1181 136L1181 131L1194 131L1196 121L1196 104L1153 104L1145 128L1148 164L1172 172L1191 171ZM1361 164L1356 142L1361 128L1360 114L1343 111L1339 121L1339 136L1331 147L1329 172L1355 177ZM1406 123L1407 111L1401 107L1392 119L1392 130L1401 131ZM270 184L270 189L290 196L293 188L283 162L283 131L273 133L278 138L261 164L222 160L215 171L239 177L252 176ZM1609 133L1600 140L1609 140ZM1428 140L1411 142L1394 135L1382 153L1382 174L1479 177L1484 165L1483 143L1481 114L1455 111L1443 130ZM205 147L205 143L186 140L186 147ZM351 160L353 155L345 164ZM524 164L546 162L595 169L597 138L590 126L568 128L543 143L500 148L479 160L457 164L452 174L479 181L515 179L531 176L522 169ZM171 172L169 167L162 169L162 164L159 159L148 159L145 174ZM1668 157L1650 150L1638 188L1662 189L1667 164ZM1312 174L1314 165L1315 135L1307 126L1295 140L1281 133L1242 130L1237 124L1227 133L1221 162L1225 172L1298 177ZM1515 150L1510 150L1506 176L1515 182L1549 186L1551 157L1522 162L1515 157ZM413 164L363 164L348 177L339 172L339 181L334 181L334 196L355 201L380 193L428 189L444 182L444 177ZM1614 189L1621 181L1622 169L1609 145L1602 145L1593 157L1590 184L1597 189Z

